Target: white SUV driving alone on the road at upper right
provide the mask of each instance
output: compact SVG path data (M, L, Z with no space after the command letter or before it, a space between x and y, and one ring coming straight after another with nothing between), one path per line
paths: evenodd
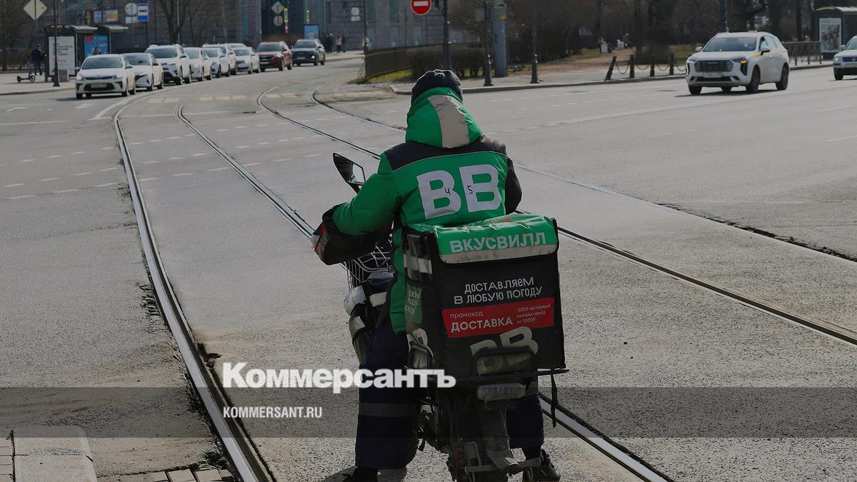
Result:
M780 39L767 32L717 33L704 47L687 57L687 88L693 95L702 87L746 87L776 83L777 90L788 87L788 51Z

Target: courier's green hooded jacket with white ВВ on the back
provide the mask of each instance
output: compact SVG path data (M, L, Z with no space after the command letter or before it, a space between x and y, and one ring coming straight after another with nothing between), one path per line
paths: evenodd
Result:
M378 172L351 202L333 211L333 225L349 235L384 226L458 226L511 213L520 184L506 146L482 135L462 99L435 87L408 111L405 142L381 154ZM396 281L390 294L393 331L405 331L405 274L401 229L393 232Z

